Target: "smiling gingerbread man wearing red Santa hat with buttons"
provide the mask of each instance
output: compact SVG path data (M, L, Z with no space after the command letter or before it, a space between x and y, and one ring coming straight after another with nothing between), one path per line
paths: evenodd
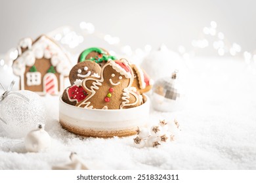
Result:
M121 109L140 105L139 95L133 83L133 71L123 61L108 61L102 68L100 78L85 78L83 88L87 97L77 107L98 109Z

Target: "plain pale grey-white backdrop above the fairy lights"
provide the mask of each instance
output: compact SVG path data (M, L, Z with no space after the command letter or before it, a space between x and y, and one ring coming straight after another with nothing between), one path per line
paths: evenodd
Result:
M253 0L196 1L18 1L0 0L0 53L16 46L23 37L36 38L62 25L79 28L81 21L91 22L96 31L121 39L132 49L161 43L173 50L179 45L189 49L192 39L211 20L218 24L232 43L249 52L255 50L255 3ZM97 39L86 40L87 46L109 45ZM208 50L208 53L212 50Z

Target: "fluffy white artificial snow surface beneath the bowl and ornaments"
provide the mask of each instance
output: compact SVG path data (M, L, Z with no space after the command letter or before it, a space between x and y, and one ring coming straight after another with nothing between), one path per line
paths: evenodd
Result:
M77 152L89 169L256 169L255 65L230 58L190 63L186 107L150 112L149 122L179 121L182 131L175 142L139 149L133 147L134 137L77 137L58 124L58 97L47 96L51 149L26 153L23 139L3 137L0 129L0 169L51 169L68 162L70 152Z

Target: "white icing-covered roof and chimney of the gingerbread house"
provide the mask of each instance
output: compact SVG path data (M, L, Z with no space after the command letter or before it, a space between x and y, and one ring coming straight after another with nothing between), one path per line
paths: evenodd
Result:
M21 53L22 48L28 48ZM14 61L12 68L15 75L21 76L25 73L26 66L32 67L35 59L46 58L51 60L51 64L56 67L56 71L63 76L68 76L71 68L70 59L64 54L62 48L51 39L42 35L35 42L25 38L19 42L19 56Z

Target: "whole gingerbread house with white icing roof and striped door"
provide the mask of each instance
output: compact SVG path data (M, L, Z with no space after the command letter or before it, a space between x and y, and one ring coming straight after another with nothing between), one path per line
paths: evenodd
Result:
M20 76L20 90L30 90L39 95L58 95L64 90L64 78L72 64L62 48L47 36L34 42L22 39L18 44L18 58L14 60L14 75Z

